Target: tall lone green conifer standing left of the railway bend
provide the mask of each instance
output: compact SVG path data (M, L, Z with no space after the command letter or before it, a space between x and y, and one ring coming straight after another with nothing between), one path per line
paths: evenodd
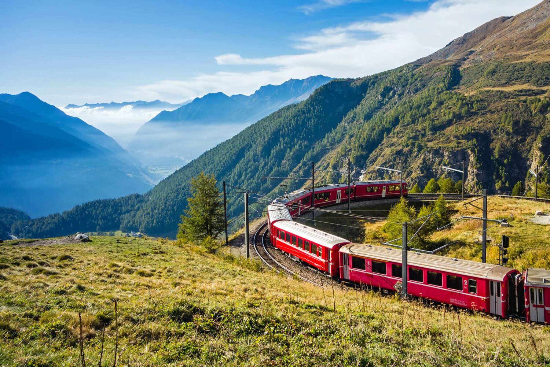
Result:
M191 179L191 197L181 216L178 238L201 242L207 237L216 238L224 230L223 202L213 174L201 172Z

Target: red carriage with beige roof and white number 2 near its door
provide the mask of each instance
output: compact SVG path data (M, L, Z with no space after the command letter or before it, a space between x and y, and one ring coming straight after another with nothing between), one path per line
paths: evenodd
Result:
M400 249L347 244L339 253L339 276L343 280L392 291L400 288ZM509 286L510 280L513 283L519 275L518 270L412 251L408 254L407 270L408 293L416 297L501 317L518 313L518 288Z

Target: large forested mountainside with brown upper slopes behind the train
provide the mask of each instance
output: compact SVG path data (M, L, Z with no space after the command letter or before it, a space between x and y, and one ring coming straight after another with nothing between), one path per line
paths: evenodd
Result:
M403 159L404 179L424 185L448 174L442 165L464 160L467 191L496 193L519 180L532 189L529 169L543 166L550 155L549 16L550 1L544 1L403 67L332 80L208 150L146 195L86 203L15 230L25 237L51 237L74 228L88 231L103 221L108 229L174 235L189 181L200 172L273 198L281 193L281 181L262 176L309 177L311 161L342 171L348 158L353 177L380 178L383 173L374 166L395 166ZM540 195L550 193L549 171L542 169ZM345 177L316 174L316 183L340 180ZM285 183L289 190L303 184ZM235 220L243 204L229 199L229 217Z

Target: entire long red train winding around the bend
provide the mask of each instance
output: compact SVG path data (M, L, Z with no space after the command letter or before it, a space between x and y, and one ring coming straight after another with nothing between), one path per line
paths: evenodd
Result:
M397 190L395 187L397 186ZM315 189L315 206L348 198L348 185ZM351 199L384 198L400 194L398 181L356 182ZM406 195L406 183L403 183ZM301 189L268 206L271 243L334 278L387 291L399 291L403 269L401 250L355 244L292 220L311 209L311 190ZM408 255L408 293L461 308L527 322L550 324L550 271L509 267L420 254Z

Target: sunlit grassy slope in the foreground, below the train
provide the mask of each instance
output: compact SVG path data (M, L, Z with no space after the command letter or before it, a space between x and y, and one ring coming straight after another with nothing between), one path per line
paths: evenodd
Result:
M190 245L9 242L0 364L543 365L550 328L259 271ZM118 300L117 319L113 301ZM334 309L335 305L335 309Z

